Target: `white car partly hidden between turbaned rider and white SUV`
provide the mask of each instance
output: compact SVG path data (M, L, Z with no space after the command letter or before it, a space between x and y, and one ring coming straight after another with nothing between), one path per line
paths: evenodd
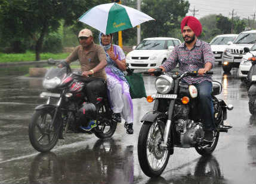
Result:
M214 53L215 61L221 64L222 54L226 47L233 43L238 34L221 34L215 36L209 45L211 45L212 52Z

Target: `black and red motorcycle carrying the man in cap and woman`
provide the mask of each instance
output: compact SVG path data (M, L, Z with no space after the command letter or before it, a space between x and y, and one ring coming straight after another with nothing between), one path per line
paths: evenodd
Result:
M53 59L48 64L54 65ZM45 90L40 97L47 102L35 107L29 123L29 140L35 150L42 153L50 151L63 134L69 132L94 133L100 139L110 138L115 133L116 122L112 120L112 110L107 99L107 87L103 95L97 98L97 107L90 103L85 93L85 86L98 78L84 78L81 72L72 72L66 62L63 68L51 67L45 74L42 85ZM105 83L106 84L106 83ZM91 131L83 131L80 126L87 126L95 120L96 126Z

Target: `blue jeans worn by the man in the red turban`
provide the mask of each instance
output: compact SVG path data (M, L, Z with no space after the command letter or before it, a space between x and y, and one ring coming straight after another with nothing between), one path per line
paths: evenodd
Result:
M199 111L203 120L204 131L214 131L216 125L214 123L214 107L212 103L212 83L203 81L200 84L194 84L198 90Z

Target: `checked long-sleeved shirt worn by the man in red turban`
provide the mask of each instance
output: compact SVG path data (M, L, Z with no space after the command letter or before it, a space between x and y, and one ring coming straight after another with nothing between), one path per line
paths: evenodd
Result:
M214 54L211 51L211 46L208 43L201 40L196 40L196 44L193 49L189 50L185 43L175 46L171 52L169 58L162 64L165 71L171 71L178 64L181 72L198 71L200 68L204 68L206 62L210 62L212 67L214 66ZM185 77L183 80L188 84L198 84L202 81L212 81L210 76L197 76L197 77Z

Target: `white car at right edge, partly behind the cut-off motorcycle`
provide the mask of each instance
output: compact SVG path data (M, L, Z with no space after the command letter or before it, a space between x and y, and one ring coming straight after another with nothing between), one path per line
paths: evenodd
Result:
M249 72L249 69L251 68L252 64L251 62L248 62L248 58L251 58L252 57L252 53L254 55L256 55L256 43L254 43L254 45L251 47L250 49L250 52L251 53L246 53L245 55L243 55L243 58L240 62L240 65L239 65L239 69L238 69L238 74L239 74L239 78L244 81L248 72Z

